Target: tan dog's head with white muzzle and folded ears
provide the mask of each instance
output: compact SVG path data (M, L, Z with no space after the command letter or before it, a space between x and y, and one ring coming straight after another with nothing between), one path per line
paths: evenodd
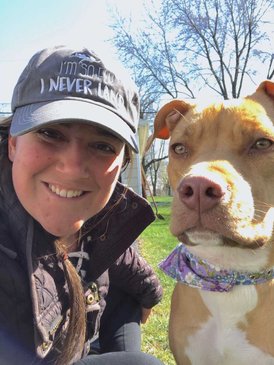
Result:
M170 101L157 113L146 149L169 137L171 233L189 245L255 249L270 242L274 83L205 107Z

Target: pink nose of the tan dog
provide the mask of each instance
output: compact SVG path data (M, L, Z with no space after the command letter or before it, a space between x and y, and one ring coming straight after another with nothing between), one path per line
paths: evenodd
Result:
M200 213L213 208L224 195L220 185L202 176L184 178L177 191L188 208Z

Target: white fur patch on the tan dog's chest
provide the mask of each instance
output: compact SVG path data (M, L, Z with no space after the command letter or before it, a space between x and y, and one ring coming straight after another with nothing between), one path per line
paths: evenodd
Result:
M255 285L235 286L228 293L199 293L212 317L188 337L185 353L192 365L274 365L274 358L250 345L239 328L258 303Z

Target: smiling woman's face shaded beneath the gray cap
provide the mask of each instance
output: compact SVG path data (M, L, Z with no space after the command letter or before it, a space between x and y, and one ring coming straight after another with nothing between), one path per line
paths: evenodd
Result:
M54 124L9 137L16 194L26 211L58 237L74 234L105 206L123 155L124 142L85 123Z

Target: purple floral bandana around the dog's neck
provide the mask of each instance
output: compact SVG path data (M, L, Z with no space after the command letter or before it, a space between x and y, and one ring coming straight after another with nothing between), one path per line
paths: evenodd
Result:
M259 284L274 277L273 268L261 273L221 270L194 256L183 243L157 266L179 283L212 292L229 292L234 285Z

